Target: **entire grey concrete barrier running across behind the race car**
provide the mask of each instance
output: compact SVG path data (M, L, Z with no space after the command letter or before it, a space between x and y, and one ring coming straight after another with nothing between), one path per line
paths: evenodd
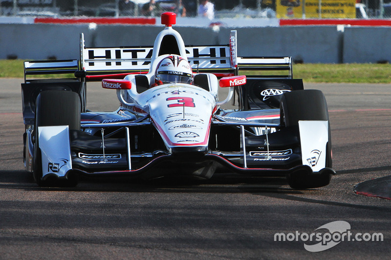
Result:
M78 59L79 34L86 46L152 46L163 26L0 24L0 59ZM239 56L291 56L305 63L391 61L391 27L174 27L185 44L227 44L238 31Z

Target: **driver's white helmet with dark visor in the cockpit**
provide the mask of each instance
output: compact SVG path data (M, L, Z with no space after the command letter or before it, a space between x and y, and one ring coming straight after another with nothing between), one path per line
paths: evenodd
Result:
M169 83L192 83L192 67L187 60L178 55L170 55L159 62L155 72L155 81Z

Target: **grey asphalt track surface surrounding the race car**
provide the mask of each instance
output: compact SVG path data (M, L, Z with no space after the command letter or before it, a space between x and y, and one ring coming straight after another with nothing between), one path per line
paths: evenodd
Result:
M278 179L218 175L84 179L59 189L38 187L23 170L21 82L0 80L0 259L390 257L391 200L353 188L391 175L391 85L304 84L321 89L328 102L337 175L326 187L293 190ZM118 105L99 85L89 86L87 97L91 110ZM348 222L353 236L381 233L383 241L335 237L335 246L309 252L304 244L316 242L305 236L274 240L276 233L326 238L328 230L316 229L332 221Z

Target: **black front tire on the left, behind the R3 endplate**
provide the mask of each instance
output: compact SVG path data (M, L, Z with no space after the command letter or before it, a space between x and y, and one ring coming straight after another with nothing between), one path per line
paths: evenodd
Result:
M69 130L80 130L81 103L79 95L71 91L48 90L41 92L36 100L34 124L33 176L39 186L72 187L77 185L75 175L58 178L54 175L42 178L41 149L39 148L39 126L68 125Z

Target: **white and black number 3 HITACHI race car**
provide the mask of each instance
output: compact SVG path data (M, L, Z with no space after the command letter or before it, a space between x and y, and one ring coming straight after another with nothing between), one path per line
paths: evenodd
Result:
M216 172L282 177L295 189L329 183L326 99L293 79L290 57L238 57L236 31L226 45L185 45L175 14L161 20L153 47L88 48L81 34L80 60L24 62L23 160L38 185ZM62 73L75 77L29 79ZM90 81L116 92L116 111L87 110ZM223 109L230 100L236 109Z

